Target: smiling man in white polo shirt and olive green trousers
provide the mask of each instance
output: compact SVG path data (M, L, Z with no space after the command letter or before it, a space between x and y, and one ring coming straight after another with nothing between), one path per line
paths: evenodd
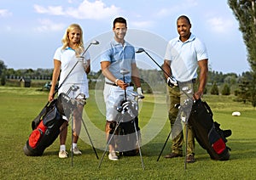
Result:
M172 39L166 48L166 55L163 68L170 75L166 76L170 100L169 120L173 129L174 122L177 119L178 110L174 108L175 104L183 104L187 95L191 98L199 99L203 95L207 84L208 55L207 48L198 37L190 32L191 24L187 16L182 15L177 18L178 37ZM197 68L200 68L199 85L195 87L197 78ZM190 94L184 94L179 87L172 83L173 76L179 84L191 88ZM194 91L193 91L194 90ZM191 110L191 107L190 107ZM188 118L188 117L187 117ZM195 162L195 136L190 126L186 128L183 123L183 132L172 137L172 153L166 155L166 158L175 158L183 156L183 139L185 139L186 129L188 129L188 147L187 162Z

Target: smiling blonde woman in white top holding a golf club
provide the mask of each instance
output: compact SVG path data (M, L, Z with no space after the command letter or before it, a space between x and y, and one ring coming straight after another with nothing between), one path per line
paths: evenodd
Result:
M55 85L60 76L58 94L67 93L72 86L79 87L77 91L70 91L67 94L70 98L84 99L89 97L89 88L87 74L90 72L90 54L81 54L84 51L83 31L80 25L72 24L67 27L65 34L61 40L62 46L55 50L54 70L52 75L52 86L49 91L49 101L54 99ZM73 68L73 66L79 63ZM73 70L72 70L73 69ZM70 74L69 74L70 73ZM69 75L68 75L69 74ZM80 95L79 95L80 94ZM77 143L79 140L79 132L81 129L81 120L84 105L79 105L78 109L73 111L73 154L81 155ZM67 120L66 116L63 116ZM60 158L67 158L66 150L67 139L67 121L61 127L60 133Z

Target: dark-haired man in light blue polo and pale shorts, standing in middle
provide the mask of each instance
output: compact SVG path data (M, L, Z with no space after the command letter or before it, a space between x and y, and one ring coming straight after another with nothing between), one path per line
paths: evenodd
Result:
M137 87L137 93L142 94L141 82L135 61L135 49L129 42L125 41L127 31L126 20L122 17L113 20L113 40L108 43L101 56L102 74L105 76L104 100L106 104L106 126L107 140L116 126L118 111L116 105L124 97L124 90L129 95L133 91L131 81ZM129 72L125 74L125 82L121 70ZM109 143L109 160L118 160L115 154L115 143Z

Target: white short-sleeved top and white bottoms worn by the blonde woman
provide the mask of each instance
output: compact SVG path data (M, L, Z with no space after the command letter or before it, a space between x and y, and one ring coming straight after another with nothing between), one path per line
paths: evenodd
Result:
M84 58L86 60L90 59L90 54L86 52L84 54ZM79 63L75 66L75 68L72 70L73 66L78 62L78 58L76 58L75 51L72 48L65 48L62 49L62 47L57 48L55 51L54 59L61 61L61 76L60 76L60 82L64 81L64 79L67 77L67 80L63 83L63 85L58 90L58 93L67 93L68 89L76 85L79 87L79 90L77 92L71 92L71 94L68 94L72 98L76 98L76 96L79 93L84 93L85 97L89 97L89 88L88 88L88 80L87 80L87 74L84 71L84 65L83 61L79 61ZM68 73L72 70L69 76Z

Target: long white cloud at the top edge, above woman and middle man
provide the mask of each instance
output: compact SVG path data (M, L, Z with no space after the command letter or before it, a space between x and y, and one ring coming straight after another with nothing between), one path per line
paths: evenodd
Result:
M39 14L65 15L79 20L101 20L117 15L120 11L120 8L114 5L107 7L105 3L102 3L102 0L96 0L94 3L84 0L77 8L63 8L62 6L49 6L44 8L40 5L34 5L34 8Z

